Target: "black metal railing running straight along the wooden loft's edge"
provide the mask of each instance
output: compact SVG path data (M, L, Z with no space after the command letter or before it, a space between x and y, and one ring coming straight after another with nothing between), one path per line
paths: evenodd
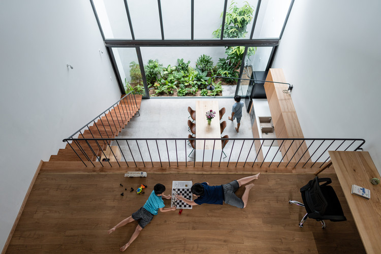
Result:
M321 168L330 158L328 151L356 151L361 149L365 143L364 139L233 139L233 138L220 138L220 139L197 139L197 138L158 138L158 139L81 139L81 138L68 138L64 142L73 143L78 146L81 153L77 153L78 149L74 149L76 154L87 167L85 162L90 162L94 167L93 162L99 162L102 167L109 165L110 159L116 161L119 166L137 166L137 162L141 162L143 167L153 167L154 163L168 162L169 166L177 165L179 162L185 162L185 166L195 166L196 162L202 162L202 166L212 165L213 162L221 162L227 160L227 166L230 163L235 163L237 167L239 162L243 162L243 167L248 165L253 167L255 163L264 162L270 167L273 163L287 162L285 167L304 167L310 163L312 168ZM196 141L201 142L201 146L197 147ZM213 149L205 149L206 142L213 142ZM215 149L217 142L221 142L222 149ZM257 147L255 145L257 142ZM259 143L258 143L259 142ZM91 144L90 144L91 143ZM269 143L271 143L269 145ZM106 144L111 150L110 155L107 157L105 149L102 149L102 144ZM200 144L200 143L199 143ZM202 145L203 144L203 145ZM117 158L117 154L113 152L111 146L117 146L120 151L121 158ZM97 149L98 148L98 149ZM196 148L196 149L195 149ZM86 152L88 151L88 152ZM189 152L190 151L190 152ZM262 155L261 155L262 152ZM90 153L90 154L88 154ZM193 156L191 156L193 155ZM225 157L223 157L225 155ZM106 160L101 161L103 156ZM95 160L91 160L95 158ZM303 164L303 165L302 165ZM257 164L258 165L258 164ZM320 165L320 166L319 166Z

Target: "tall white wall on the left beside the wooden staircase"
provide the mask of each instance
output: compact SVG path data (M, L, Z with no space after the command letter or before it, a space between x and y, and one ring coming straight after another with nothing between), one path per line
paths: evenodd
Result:
M40 160L120 91L89 1L3 0L0 31L2 249Z

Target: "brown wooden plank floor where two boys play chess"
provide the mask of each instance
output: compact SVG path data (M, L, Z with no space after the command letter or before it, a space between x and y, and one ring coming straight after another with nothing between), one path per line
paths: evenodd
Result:
M114 167L113 167L114 168ZM144 205L154 184L173 180L227 183L246 175L148 173L146 178L125 178L122 173L52 173L41 171L6 253L118 253L128 242L134 221L111 235L107 230ZM335 175L333 187L347 221L326 221L327 229L308 219L300 206L299 189L309 174L262 173L250 191L248 205L201 205L192 210L159 212L126 250L128 253L365 253L351 212ZM120 186L119 184L122 184ZM130 193L146 184L144 194ZM125 188L127 190L125 190ZM244 188L237 191L241 196ZM120 196L121 193L124 196ZM165 204L169 205L169 200Z

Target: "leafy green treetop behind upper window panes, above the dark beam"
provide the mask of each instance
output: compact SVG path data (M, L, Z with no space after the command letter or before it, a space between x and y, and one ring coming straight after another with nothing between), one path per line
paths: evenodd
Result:
M232 1L225 16L224 38L244 38L247 34L247 25L251 22L254 8L247 2L241 8ZM221 18L224 12L221 13ZM214 38L220 38L221 26L213 31Z

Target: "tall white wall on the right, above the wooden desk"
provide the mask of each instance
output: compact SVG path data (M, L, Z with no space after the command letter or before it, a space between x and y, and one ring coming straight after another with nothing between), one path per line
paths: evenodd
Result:
M305 137L363 138L381 171L381 2L295 1L273 68L294 85Z

